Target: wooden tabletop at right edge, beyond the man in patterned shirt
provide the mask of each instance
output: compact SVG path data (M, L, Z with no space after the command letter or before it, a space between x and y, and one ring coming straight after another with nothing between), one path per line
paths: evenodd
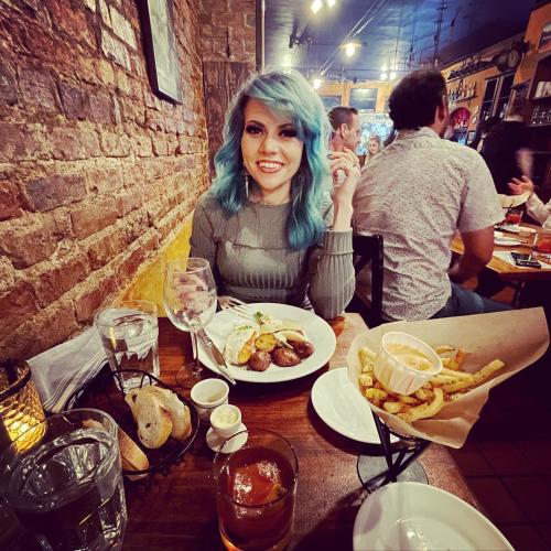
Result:
M541 229L539 226L534 226L532 224L521 224L527 228ZM495 251L499 250L516 250L518 252L532 252L532 248L529 244L532 240L532 237L522 238L517 234L504 234L507 237L511 237L514 239L521 239L522 244L518 244L515 246L503 247L499 245L495 246ZM461 236L457 234L452 240L452 251L456 255L463 255L464 247ZM499 276L499 279L507 282L526 282L526 281L549 281L551 280L551 270L541 270L538 268L521 268L518 266L510 264L500 258L494 256L491 260L486 266L487 269L496 272Z

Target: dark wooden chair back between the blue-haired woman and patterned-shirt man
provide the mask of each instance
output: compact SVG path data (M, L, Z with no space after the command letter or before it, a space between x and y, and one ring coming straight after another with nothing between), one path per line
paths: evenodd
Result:
M359 313L369 327L377 327L382 323L382 236L355 235L352 241L356 276L371 266L371 306L355 295L346 310Z

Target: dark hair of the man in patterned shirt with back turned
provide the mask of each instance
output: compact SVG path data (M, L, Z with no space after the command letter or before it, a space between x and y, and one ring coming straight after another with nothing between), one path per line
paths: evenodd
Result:
M395 128L401 130L429 127L446 94L446 83L437 69L421 69L404 77L388 100Z

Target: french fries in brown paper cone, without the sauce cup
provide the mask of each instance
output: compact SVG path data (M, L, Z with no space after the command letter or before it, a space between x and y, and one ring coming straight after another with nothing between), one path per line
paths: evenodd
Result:
M381 341L390 332L417 337L441 359L437 375L411 393L397 392L376 376ZM490 389L533 364L548 345L542 309L395 322L354 339L348 376L374 414L393 432L461 447Z

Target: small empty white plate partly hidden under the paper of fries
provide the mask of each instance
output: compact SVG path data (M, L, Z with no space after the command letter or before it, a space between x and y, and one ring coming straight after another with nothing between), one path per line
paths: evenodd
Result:
M314 382L311 397L316 413L334 431L366 444L381 443L371 409L349 381L348 369L323 374ZM391 442L396 441L391 436Z

